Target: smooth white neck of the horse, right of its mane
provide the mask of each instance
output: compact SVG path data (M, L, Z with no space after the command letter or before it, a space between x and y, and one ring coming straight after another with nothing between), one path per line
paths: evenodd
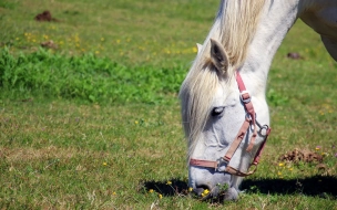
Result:
M247 57L241 67L243 80L253 95L265 97L267 75L272 60L282 41L293 27L302 10L298 0L266 1L261 21L248 48Z

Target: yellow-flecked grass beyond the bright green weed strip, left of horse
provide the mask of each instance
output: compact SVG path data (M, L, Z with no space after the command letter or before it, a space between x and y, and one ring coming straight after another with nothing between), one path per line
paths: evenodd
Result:
M195 42L205 38L218 2L4 0L2 4L0 27L11 33L2 33L1 42L13 49L31 52L52 40L57 51L68 55L91 52L127 66L172 67L193 59ZM33 21L44 10L60 22Z

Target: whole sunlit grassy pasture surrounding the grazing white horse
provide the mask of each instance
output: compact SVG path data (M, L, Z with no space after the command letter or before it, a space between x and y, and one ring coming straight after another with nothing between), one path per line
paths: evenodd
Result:
M270 67L273 132L246 192L188 193L176 94L217 4L1 1L1 209L337 209L337 65L300 21ZM60 22L35 22L45 9ZM295 148L324 168L278 160Z

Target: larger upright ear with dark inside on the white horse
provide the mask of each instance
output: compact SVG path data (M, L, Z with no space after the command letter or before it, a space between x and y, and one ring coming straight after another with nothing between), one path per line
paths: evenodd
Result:
M211 61L221 73L225 73L227 71L228 55L224 46L213 39L211 39Z

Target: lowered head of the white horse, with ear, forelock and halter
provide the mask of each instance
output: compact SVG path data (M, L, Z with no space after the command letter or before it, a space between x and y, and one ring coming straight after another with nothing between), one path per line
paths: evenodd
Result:
M238 72L231 66L224 46L211 39L198 49L202 57L194 63L195 71L190 71L180 93L190 148L190 186L204 198L223 195L236 199L241 177L246 176L259 149L256 145L265 140L268 127L251 116L245 98L249 94L239 90ZM259 119L268 122L265 98L249 96L249 103L259 112ZM253 148L247 151L251 143Z

